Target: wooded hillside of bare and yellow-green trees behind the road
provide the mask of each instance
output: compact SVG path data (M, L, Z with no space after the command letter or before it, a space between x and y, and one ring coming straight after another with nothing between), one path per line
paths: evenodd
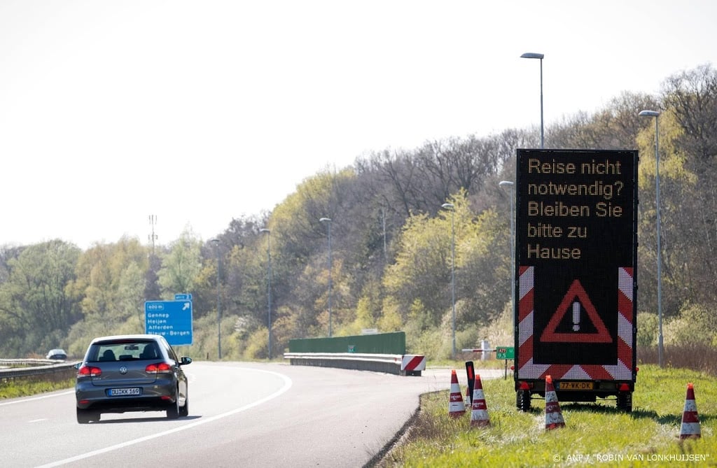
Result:
M665 345L717 348L717 70L678 72L659 95L624 92L596 113L548 123L545 147L640 151L638 345L650 348L655 121L637 115L645 109L661 112ZM515 179L516 148L538 142L539 129L506 129L367 153L305 179L270 212L229 220L219 242L185 231L155 247L136 238L87 250L62 239L3 246L0 355L61 347L80 357L97 335L143 333L146 300L189 292L194 343L182 353L217 358L219 300L222 357L277 358L292 338L328 335L331 290L334 336L404 330L409 352L448 358L452 222L457 348L511 345L511 193L498 182Z

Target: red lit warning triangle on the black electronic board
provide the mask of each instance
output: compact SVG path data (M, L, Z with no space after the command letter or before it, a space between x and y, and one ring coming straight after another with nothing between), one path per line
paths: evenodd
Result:
M565 314L569 309L573 308L573 303L576 302L576 300L584 307L587 316L597 332L579 333L579 327L573 328L574 331L570 333L556 331L561 320L565 317ZM574 280L573 284L570 285L568 292L550 318L550 322L545 330L543 330L540 340L546 343L612 343L609 331L607 331L605 324L597 314L597 310L595 310L595 306L590 301L590 298L587 297L587 292L585 292L584 287L582 287L578 280Z

